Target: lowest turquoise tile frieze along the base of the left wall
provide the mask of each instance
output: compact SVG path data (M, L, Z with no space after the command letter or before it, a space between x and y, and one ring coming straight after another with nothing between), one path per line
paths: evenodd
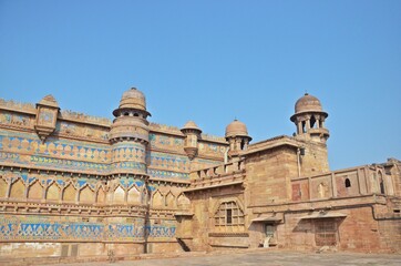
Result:
M176 232L174 223L145 226L143 218L110 224L53 219L3 215L0 217L0 241L143 241L145 234L153 238L172 238Z

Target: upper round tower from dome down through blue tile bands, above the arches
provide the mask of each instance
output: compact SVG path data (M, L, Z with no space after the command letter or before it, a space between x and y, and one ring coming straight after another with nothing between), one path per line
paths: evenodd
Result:
M113 173L146 175L148 122L145 95L132 88L124 92L110 131Z

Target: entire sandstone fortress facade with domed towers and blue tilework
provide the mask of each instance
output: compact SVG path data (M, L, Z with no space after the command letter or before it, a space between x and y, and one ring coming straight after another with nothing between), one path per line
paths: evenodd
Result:
M150 123L130 89L115 119L0 100L0 258L222 248L401 252L401 162L330 171L320 101L294 136L250 144Z

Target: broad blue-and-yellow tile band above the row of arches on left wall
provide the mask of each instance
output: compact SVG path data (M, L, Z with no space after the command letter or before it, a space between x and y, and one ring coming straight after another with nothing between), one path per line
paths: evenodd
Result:
M42 143L35 137L28 133L11 134L0 131L0 163L88 174L106 175L122 170L124 173L132 171L157 178L188 178L188 157L152 151L146 155L146 150L138 143L122 142L96 146L52 137ZM146 166L146 162L150 165ZM147 167L152 170L146 170Z

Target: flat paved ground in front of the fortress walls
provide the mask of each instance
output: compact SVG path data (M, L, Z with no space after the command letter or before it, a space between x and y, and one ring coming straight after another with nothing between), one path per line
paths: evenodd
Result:
M401 265L401 254L356 254L356 253L296 253L296 252L240 252L225 254L194 254L185 257L125 260L115 263L62 264L62 266L331 266L331 265ZM60 264L59 264L60 266Z

